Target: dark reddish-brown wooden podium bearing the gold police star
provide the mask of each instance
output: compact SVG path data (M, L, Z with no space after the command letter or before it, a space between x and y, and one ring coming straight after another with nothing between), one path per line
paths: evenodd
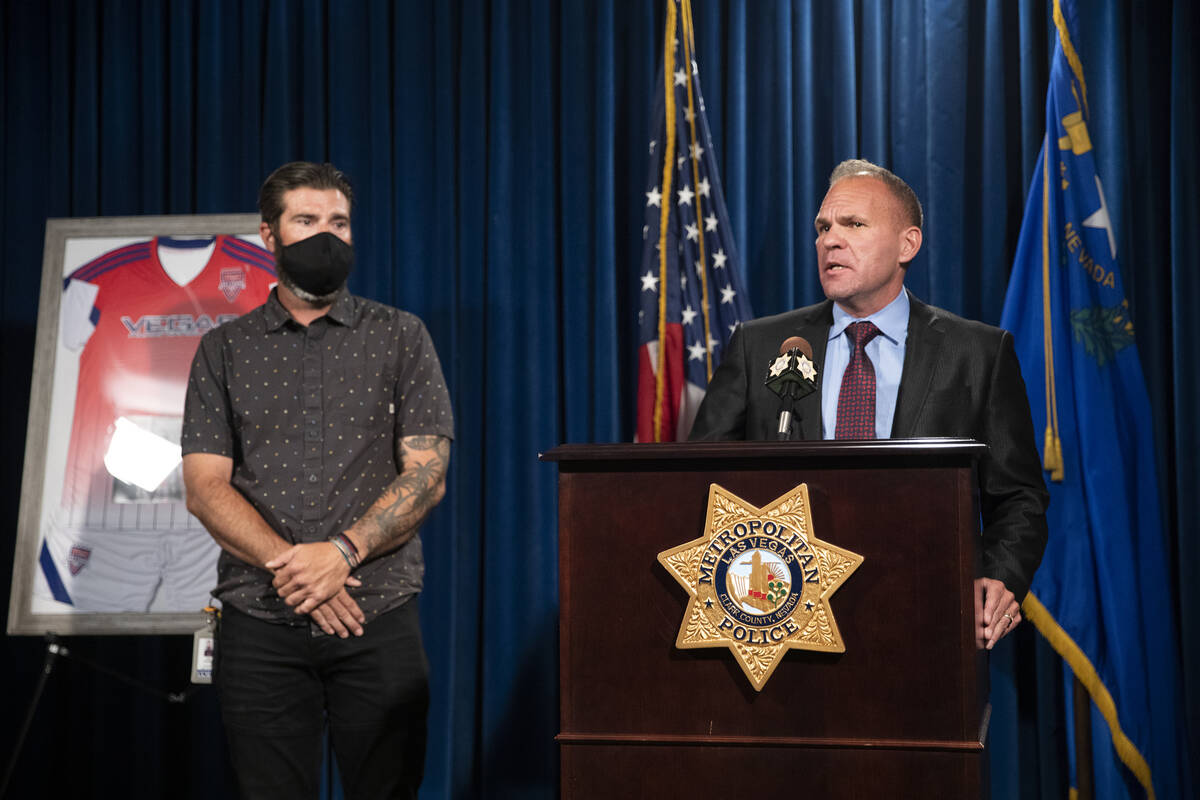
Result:
M976 461L959 439L563 445L563 798L979 798ZM679 650L660 552L710 483L764 506L806 483L812 533L864 557L832 599L846 650L792 650L756 692L725 648Z

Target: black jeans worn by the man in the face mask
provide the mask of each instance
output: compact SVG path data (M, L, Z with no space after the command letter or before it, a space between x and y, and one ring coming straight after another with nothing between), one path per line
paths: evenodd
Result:
M214 682L246 800L316 799L326 720L347 800L416 798L430 705L416 597L362 631L313 637L226 606Z

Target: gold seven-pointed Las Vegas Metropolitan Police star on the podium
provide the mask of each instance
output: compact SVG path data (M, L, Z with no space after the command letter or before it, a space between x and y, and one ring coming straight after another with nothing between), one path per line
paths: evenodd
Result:
M806 483L762 509L713 483L703 535L659 553L690 595L676 646L727 646L762 691L787 650L845 652L829 597L862 563L816 537Z

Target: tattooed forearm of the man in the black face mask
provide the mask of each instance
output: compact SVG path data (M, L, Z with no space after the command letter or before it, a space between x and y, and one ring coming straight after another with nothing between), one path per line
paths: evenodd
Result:
M437 435L403 437L397 455L400 475L355 525L372 555L412 539L442 499L450 440Z

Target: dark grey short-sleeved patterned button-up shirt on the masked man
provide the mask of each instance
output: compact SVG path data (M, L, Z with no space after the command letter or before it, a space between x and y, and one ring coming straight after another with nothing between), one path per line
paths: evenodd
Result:
M398 475L401 437L452 433L442 366L420 319L343 289L305 327L271 291L200 339L181 444L184 455L232 458L233 486L300 543L346 530L371 507ZM355 570L362 587L348 591L370 621L420 591L424 571L414 535ZM308 624L271 577L222 551L214 595L259 619Z

